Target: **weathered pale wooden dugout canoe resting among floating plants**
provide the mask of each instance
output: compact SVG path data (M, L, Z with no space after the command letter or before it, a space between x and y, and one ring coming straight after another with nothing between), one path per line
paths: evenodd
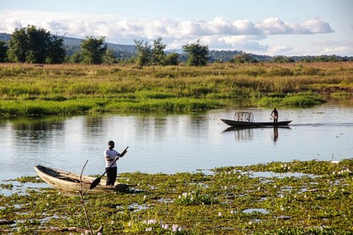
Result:
M55 168L49 168L42 165L35 166L39 177L41 177L46 183L54 187L55 189L63 191L74 191L79 192L80 175L63 171ZM125 192L131 185L115 183L112 185L105 185L105 182L101 182L92 190L89 190L90 184L95 180L94 177L82 175L82 191L88 194L102 194L102 193L113 193L113 192Z

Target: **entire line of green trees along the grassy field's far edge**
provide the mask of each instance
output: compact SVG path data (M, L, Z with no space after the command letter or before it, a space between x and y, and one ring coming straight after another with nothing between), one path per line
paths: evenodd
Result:
M185 61L189 66L205 66L207 63L294 63L294 62L337 62L353 61L353 57L336 55L320 56L262 56L243 51L211 51L208 45L200 44L200 40L182 46L182 54L166 53L167 45L162 38L153 40L150 45L145 40L134 40L137 53L128 59L118 59L115 52L107 47L104 37L86 37L80 43L79 49L71 56L66 55L63 37L52 35L45 29L36 26L15 29L8 43L0 40L0 62L19 62L37 64L60 63L135 63L142 68L149 65L177 65ZM77 49L77 48L76 48ZM75 50L76 50L75 49ZM124 52L122 52L124 53Z

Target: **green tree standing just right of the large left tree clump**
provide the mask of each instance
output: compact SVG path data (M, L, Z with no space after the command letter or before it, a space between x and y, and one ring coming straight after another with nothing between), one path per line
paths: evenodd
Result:
M84 63L101 64L103 62L103 55L107 50L105 37L86 37L86 39L81 42L81 50Z

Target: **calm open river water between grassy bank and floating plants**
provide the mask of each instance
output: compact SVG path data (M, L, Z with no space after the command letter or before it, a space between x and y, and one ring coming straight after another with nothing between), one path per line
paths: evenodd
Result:
M243 109L244 110L244 109ZM232 110L188 115L102 115L0 119L0 180L35 175L37 164L85 174L104 172L109 140L128 154L118 172L194 172L270 161L353 157L353 101L279 110L289 128L229 129ZM270 121L271 109L247 109Z

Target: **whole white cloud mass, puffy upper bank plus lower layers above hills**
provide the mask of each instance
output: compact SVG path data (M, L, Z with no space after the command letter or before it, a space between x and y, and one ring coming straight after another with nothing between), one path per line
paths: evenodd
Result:
M249 19L234 21L216 17L210 21L174 20L168 18L131 19L117 15L92 15L75 12L45 12L26 10L0 11L0 32L12 33L15 28L36 25L53 34L67 37L105 36L106 41L132 44L133 39L151 41L162 37L168 48L180 48L200 39L212 49L237 49L249 52L292 53L286 45L269 47L260 41L270 35L303 35L334 32L329 23L310 19L302 23L284 22L270 17L262 22ZM346 46L346 47L345 47ZM327 48L352 47L352 45Z

